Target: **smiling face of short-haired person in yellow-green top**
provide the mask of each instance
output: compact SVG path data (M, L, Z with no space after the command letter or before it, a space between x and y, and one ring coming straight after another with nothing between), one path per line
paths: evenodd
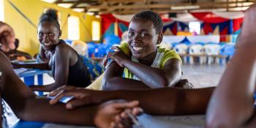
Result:
M132 56L143 59L157 51L157 44L162 41L162 34L157 34L151 20L134 18L129 23L128 45Z

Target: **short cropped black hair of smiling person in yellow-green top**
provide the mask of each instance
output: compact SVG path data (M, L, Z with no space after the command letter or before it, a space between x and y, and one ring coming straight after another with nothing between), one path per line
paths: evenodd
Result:
M162 18L153 11L143 11L143 12L138 12L137 14L135 14L135 16L133 16L132 20L135 18L139 18L139 19L143 19L143 20L151 20L154 23L154 28L157 31L157 34L162 32ZM132 21L131 20L131 21Z

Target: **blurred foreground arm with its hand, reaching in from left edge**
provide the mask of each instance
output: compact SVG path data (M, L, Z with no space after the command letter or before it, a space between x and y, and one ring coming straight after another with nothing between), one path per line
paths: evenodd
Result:
M112 102L102 105L86 105L75 110L67 110L64 104L49 105L45 97L37 97L31 89L13 72L10 62L0 52L2 81L1 96L10 105L18 118L24 121L41 121L58 124L93 125L109 127L115 116L124 109L135 108L138 102ZM12 92L12 93L10 93ZM17 100L19 99L19 100Z

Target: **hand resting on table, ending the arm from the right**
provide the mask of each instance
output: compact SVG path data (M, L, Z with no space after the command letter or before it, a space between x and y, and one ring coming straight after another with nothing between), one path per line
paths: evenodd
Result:
M72 100L67 102L67 109L75 109L83 105L97 104L105 102L109 94L106 95L105 91L96 91L84 88L78 88L75 86L61 86L59 89L50 92L50 97L54 97L50 100L50 105L54 105L64 97L73 97Z

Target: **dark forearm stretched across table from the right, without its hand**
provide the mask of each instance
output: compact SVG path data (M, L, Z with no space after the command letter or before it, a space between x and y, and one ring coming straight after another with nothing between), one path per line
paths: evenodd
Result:
M138 89L108 94L111 99L138 100L146 113L153 115L202 114L206 112L214 87L204 89Z

